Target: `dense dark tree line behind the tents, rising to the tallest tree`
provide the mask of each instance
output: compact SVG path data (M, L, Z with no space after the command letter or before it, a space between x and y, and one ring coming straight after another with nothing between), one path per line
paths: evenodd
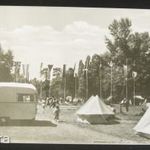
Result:
M133 32L128 18L114 20L108 29L110 35L105 38L108 51L80 60L76 75L74 68L66 71L66 95L83 99L96 94L102 98L112 95L114 102L124 97L132 100L134 94L149 97L149 33ZM59 90L59 81L61 78L52 81L54 95L63 94L63 90Z

